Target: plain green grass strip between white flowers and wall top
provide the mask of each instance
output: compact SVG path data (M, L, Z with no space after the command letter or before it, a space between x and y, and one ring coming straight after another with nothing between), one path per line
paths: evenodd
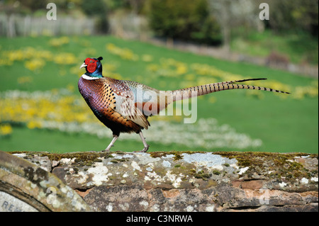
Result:
M134 135L133 135L134 136ZM138 135L135 135L138 136ZM81 142L79 142L81 141ZM83 133L69 134L66 132L56 132L52 130L28 130L28 128L14 128L10 138L1 140L1 151L35 151L35 152L88 152L101 151L105 149L109 139L99 139L93 135ZM154 151L208 151L208 149L192 148L183 145L162 145L157 142L147 142L150 145L150 152ZM121 140L116 142L111 151L134 152L143 149L142 142L134 140ZM213 149L213 151L222 151L223 149ZM212 151L212 149L210 150ZM238 149L238 151L240 151Z

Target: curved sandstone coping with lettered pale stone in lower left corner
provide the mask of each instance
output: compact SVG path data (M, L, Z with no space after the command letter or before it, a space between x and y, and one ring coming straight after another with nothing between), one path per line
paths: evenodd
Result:
M0 152L0 212L38 211L91 211L91 208L43 167Z

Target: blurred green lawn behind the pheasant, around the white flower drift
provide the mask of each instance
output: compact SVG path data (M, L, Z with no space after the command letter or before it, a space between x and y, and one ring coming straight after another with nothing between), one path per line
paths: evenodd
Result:
M80 96L79 91L77 91L77 81L84 70L78 68L86 57L100 56L104 59L102 61L104 76L110 75L110 77L135 80L160 90L181 89L185 88L186 84L197 85L199 81L220 81L216 77L209 76L198 79L198 74L195 74L194 70L190 70L191 64L194 63L211 65L225 72L225 74L239 74L245 78L267 77L269 80L264 81L263 85L267 86L268 84L270 88L276 88L272 87L272 84L274 84L272 81L278 81L280 84L291 87L290 91L292 92L296 91L298 86L307 89L308 86L313 86L313 82L317 82L318 86L318 80L288 72L167 50L164 47L132 40L121 40L111 36L74 37L69 38L65 43L59 39L56 39L57 43L54 43L52 39L55 38L0 38L0 92L12 89L46 91L68 88L73 90L74 95ZM134 55L138 55L139 60L125 60L120 55L113 54L106 47L110 43L122 49L128 48L131 50L131 52L128 52L128 57L134 58ZM15 60L12 64L6 62L4 52L20 50L25 47L33 47L38 52L44 50L51 52L54 59L61 53L71 53L75 56L75 60L71 59L68 63L67 55L65 58L62 55L61 62L58 60L44 60L45 64L42 67L38 66L38 69L32 69L32 67L28 69L26 60ZM165 67L168 62L165 61L167 59L174 59L174 62L179 62L179 64L184 63L188 72L174 77L155 76L159 72L153 73L149 69L150 65ZM30 64L36 63L32 60L28 61ZM22 79L19 79L20 77ZM197 79L194 79L194 77ZM318 153L318 94L315 97L303 95L301 98L294 98L291 95L282 98L282 96L270 92L262 92L262 96L259 96L253 91L222 91L198 98L197 104L198 119L216 118L220 124L231 125L237 132L250 135L253 139L262 140L261 147L243 149L245 151ZM0 113L2 116L6 114L3 111ZM0 115L0 117L2 116ZM152 129L151 126L149 130ZM169 130L169 128L166 129ZM147 130L144 135L147 138ZM132 136L137 135L132 134ZM109 139L99 139L94 135L81 133L68 134L56 130L29 130L26 126L13 126L13 131L9 137L0 137L0 149L4 151L89 151L104 149L110 141L111 137ZM157 142L149 143L150 151L172 149L184 151L190 149L205 151L237 150L233 148L190 148L174 143L170 145L162 145ZM116 149L123 151L142 149L142 142L121 140L120 137L113 150Z

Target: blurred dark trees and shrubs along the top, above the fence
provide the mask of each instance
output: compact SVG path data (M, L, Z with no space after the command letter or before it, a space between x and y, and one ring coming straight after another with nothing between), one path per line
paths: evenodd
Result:
M4 13L45 13L50 2L4 0L0 1L0 9ZM59 13L96 16L102 33L108 30L108 15L124 9L127 13L145 14L156 35L211 45L220 44L223 39L220 30L260 22L259 4L267 3L270 20L262 21L263 26L277 33L293 30L318 37L318 0L56 0L54 3ZM222 12L223 6L227 13Z

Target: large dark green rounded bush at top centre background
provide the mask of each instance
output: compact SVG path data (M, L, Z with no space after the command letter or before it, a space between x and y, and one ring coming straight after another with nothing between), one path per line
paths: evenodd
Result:
M151 0L147 16L156 35L179 40L220 44L220 27L206 0Z

